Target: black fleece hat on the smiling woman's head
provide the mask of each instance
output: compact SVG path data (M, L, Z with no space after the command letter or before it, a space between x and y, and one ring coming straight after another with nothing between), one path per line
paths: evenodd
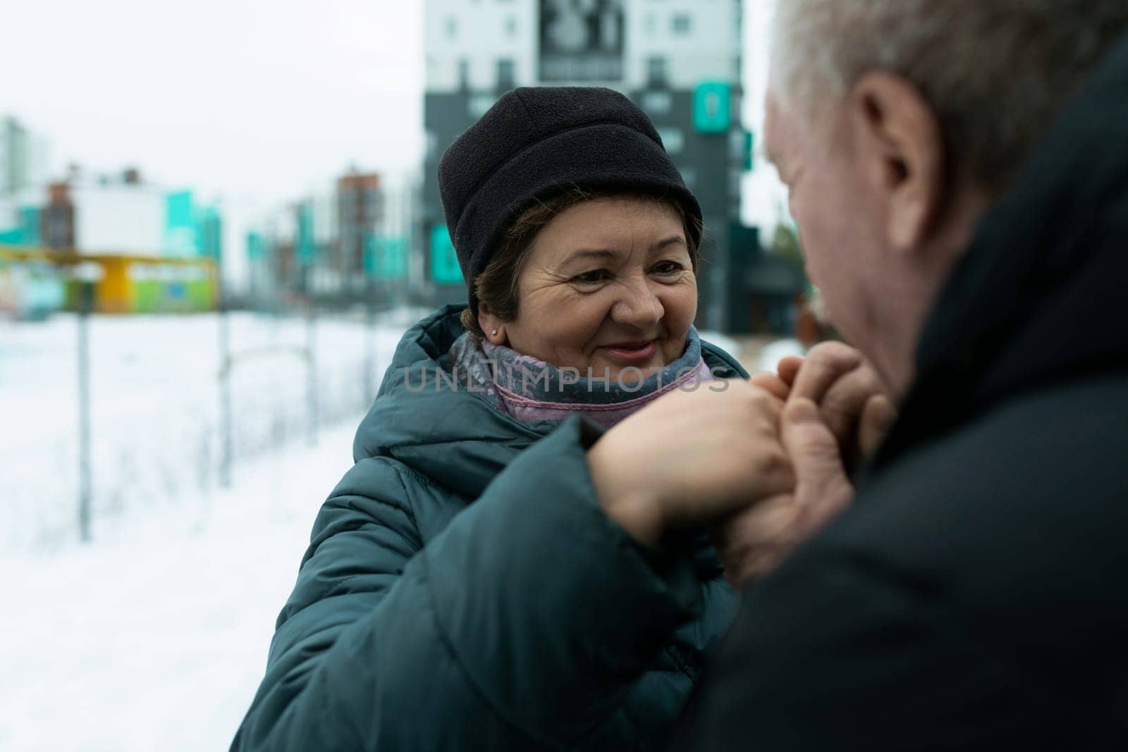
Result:
M700 244L700 206L634 103L597 87L513 89L439 162L447 228L472 309L474 277L502 231L537 200L571 187L669 196L691 218L689 232Z

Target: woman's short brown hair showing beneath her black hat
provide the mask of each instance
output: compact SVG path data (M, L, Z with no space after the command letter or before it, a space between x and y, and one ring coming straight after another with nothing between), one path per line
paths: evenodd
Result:
M678 213L678 216L681 218L681 224L686 232L686 242L689 245L689 262L694 273L697 273L698 248L697 244L694 242L694 238L699 237L700 228L691 228L689 225L690 221L696 220L690 220L690 215L686 214L686 211L678 202L650 194L600 192L572 187L550 198L538 201L502 232L497 250L493 254L490 263L486 264L482 273L474 280L474 294L477 297L478 304L484 304L503 321L515 319L520 302L518 300L517 281L521 276L521 269L525 268L525 260L528 257L532 239L537 237L537 233L545 225L572 206L582 204L585 201L609 198L613 196L655 201L671 206ZM694 232L691 230L697 231ZM482 331L482 327L478 325L477 311L470 308L465 309L461 322L462 328L472 335L478 337L485 336L485 333Z

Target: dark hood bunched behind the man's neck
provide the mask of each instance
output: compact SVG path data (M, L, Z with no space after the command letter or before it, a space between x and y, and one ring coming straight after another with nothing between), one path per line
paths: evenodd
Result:
M1004 399L1128 365L1128 38L980 223L878 463Z

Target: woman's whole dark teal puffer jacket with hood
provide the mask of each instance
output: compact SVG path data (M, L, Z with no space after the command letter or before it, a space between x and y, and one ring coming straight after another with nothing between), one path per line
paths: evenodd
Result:
M659 555L599 508L589 424L435 388L459 311L399 343L232 750L656 749L729 626L707 542Z

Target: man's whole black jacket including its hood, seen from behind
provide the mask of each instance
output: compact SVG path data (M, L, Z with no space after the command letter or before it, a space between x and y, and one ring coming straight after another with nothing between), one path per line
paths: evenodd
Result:
M1128 44L986 218L854 506L677 750L1128 750Z

